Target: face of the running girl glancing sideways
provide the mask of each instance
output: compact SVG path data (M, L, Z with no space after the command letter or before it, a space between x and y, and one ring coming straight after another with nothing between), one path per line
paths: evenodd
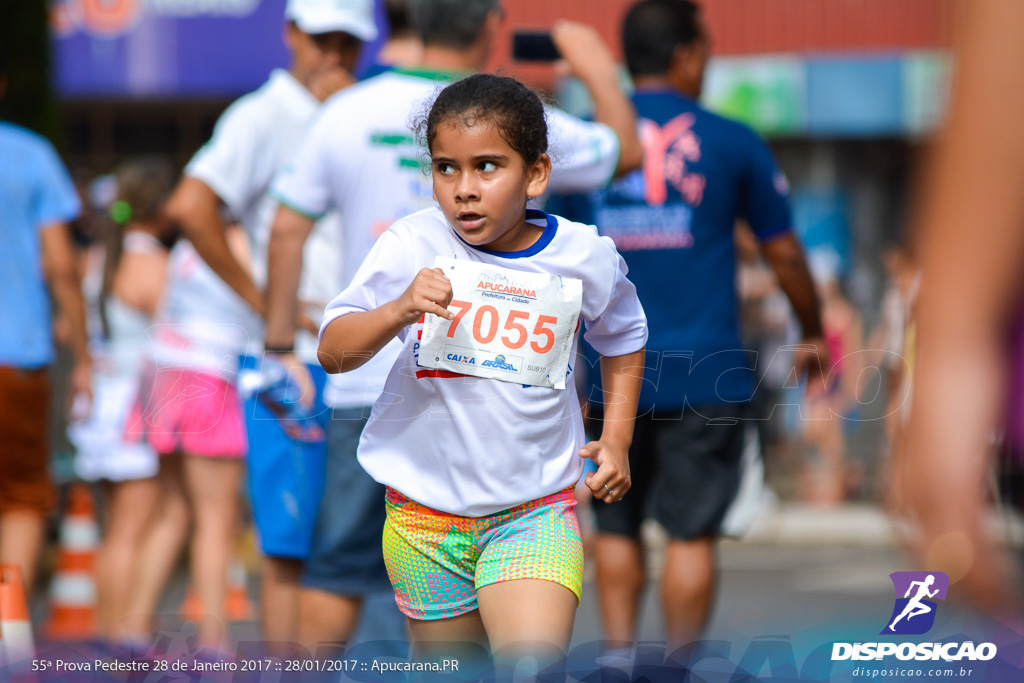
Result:
M434 200L463 240L505 252L537 241L543 228L526 223L526 201L548 186L547 155L527 166L486 120L441 123L430 152Z

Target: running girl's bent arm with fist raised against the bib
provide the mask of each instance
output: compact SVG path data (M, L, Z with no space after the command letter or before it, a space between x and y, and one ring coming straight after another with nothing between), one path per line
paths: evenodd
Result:
M327 372L347 373L374 357L401 330L433 313L451 321L452 282L440 268L423 268L394 301L373 310L345 313L321 336L316 357Z

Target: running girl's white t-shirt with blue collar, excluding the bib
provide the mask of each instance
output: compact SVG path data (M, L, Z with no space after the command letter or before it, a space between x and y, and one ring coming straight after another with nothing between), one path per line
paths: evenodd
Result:
M602 355L644 347L647 321L626 263L596 228L540 211L543 226L521 252L474 248L439 209L391 225L374 245L352 283L325 312L324 330L346 313L373 310L401 296L436 256L544 272L583 281L584 336ZM583 473L586 442L572 381L565 389L523 386L417 366L422 324L398 334L402 343L384 391L359 439L359 464L382 484L444 512L482 517L555 493ZM572 353L577 358L573 341Z

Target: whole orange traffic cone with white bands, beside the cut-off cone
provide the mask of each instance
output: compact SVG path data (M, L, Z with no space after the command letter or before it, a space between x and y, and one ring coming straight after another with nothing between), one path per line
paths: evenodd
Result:
M50 585L46 635L53 640L87 640L96 634L96 525L92 492L75 484L60 523L57 566Z

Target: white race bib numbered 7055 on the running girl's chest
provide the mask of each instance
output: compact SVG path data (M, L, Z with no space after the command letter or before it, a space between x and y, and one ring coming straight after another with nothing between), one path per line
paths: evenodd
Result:
M565 388L583 281L438 256L455 319L427 314L419 359L515 384Z

